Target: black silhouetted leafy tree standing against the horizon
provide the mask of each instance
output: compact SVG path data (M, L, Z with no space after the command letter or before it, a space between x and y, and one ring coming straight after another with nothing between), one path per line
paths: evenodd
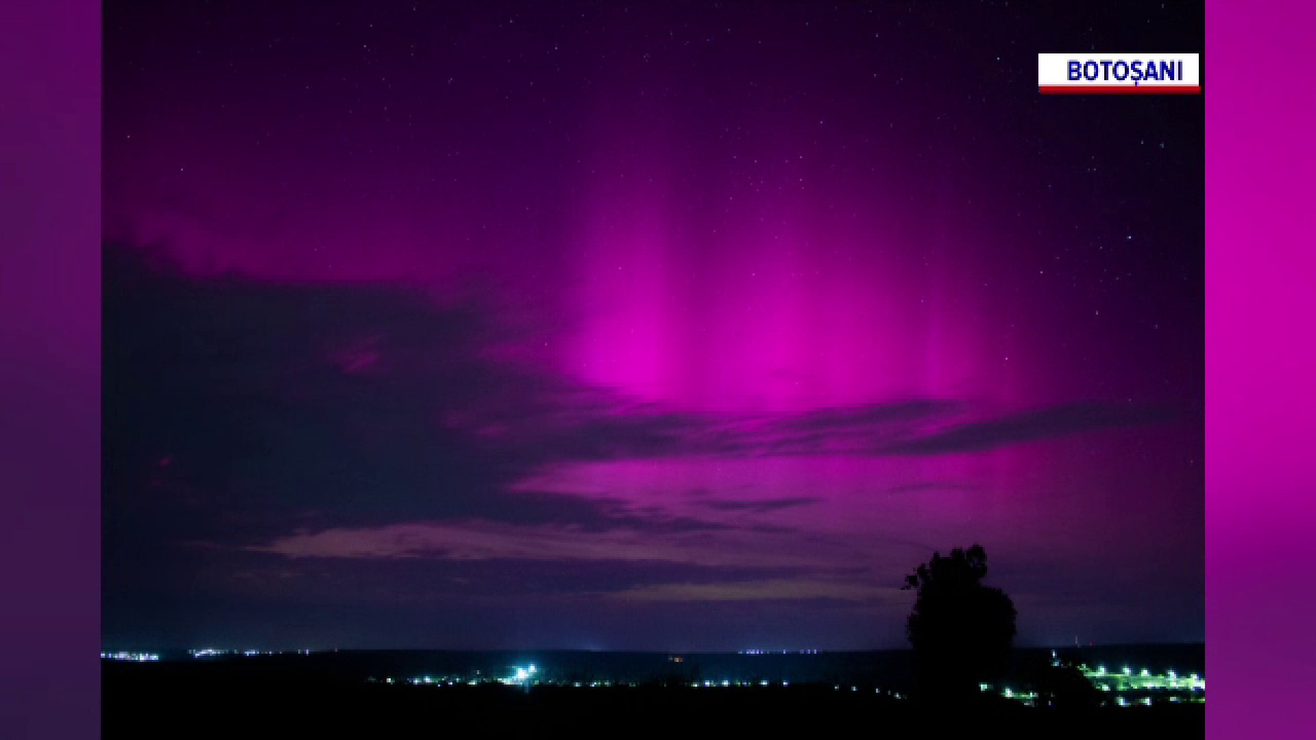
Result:
M905 635L913 645L915 685L925 700L962 702L1004 673L1015 640L1015 604L1000 589L983 586L987 553L975 544L955 548L905 577L917 590Z

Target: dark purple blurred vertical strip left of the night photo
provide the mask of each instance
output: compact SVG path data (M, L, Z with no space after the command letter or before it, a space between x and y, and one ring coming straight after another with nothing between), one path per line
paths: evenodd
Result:
M100 3L0 0L0 737L100 735Z

